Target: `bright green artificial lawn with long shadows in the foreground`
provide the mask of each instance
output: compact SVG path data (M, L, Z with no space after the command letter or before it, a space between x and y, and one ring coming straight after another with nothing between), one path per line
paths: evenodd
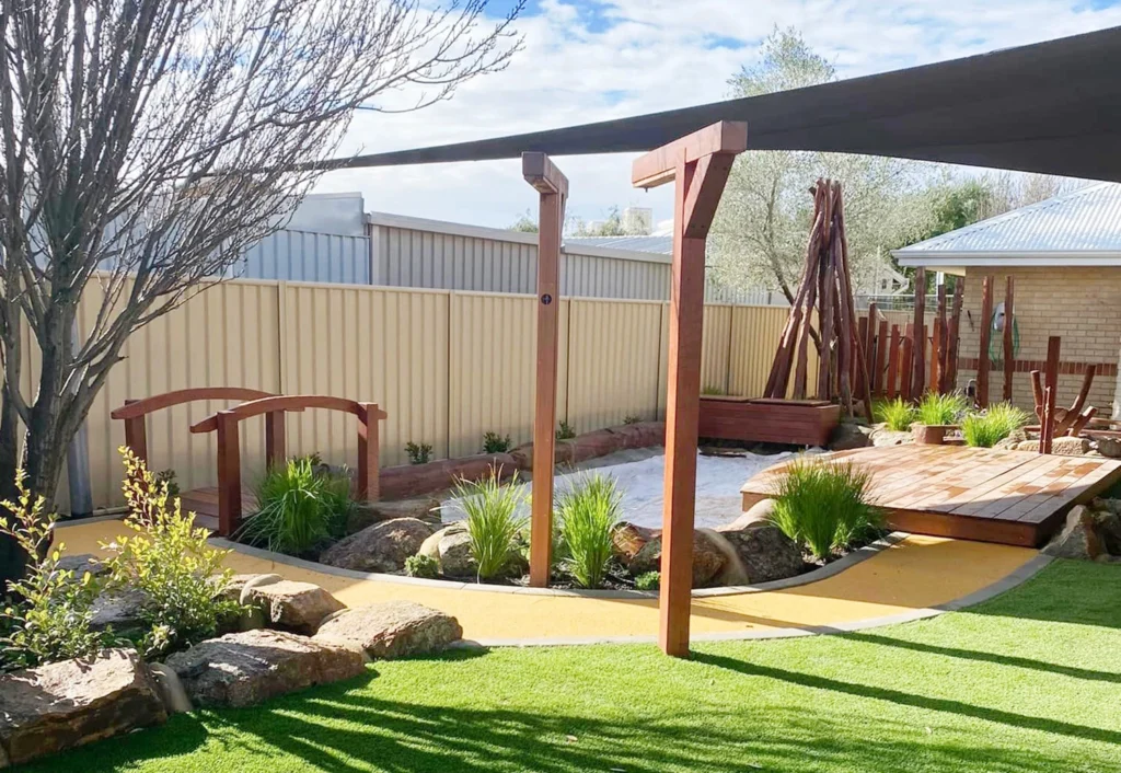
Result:
M456 652L35 771L1121 771L1121 567L845 636Z

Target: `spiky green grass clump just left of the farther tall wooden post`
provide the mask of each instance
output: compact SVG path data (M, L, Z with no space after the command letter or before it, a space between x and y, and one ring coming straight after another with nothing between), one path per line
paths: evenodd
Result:
M499 480L500 471L491 469L481 480L460 480L455 497L466 513L471 556L478 565L479 579L490 580L506 574L519 559L517 536L526 527L520 508L526 495L518 486L518 476L508 485Z

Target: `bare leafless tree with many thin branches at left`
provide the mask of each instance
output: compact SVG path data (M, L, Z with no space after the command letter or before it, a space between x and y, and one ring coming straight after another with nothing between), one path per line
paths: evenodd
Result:
M129 334L281 228L323 174L299 163L335 153L356 109L415 110L504 67L521 3L498 22L485 7L0 0L0 487L21 463L53 501Z

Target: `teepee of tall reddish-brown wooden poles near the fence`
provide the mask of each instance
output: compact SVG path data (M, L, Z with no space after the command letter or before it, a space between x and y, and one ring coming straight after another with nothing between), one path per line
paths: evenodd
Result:
M858 397L863 401L864 413L871 418L868 358L858 332L852 297L841 183L818 180L810 193L814 195L814 219L806 264L763 396L785 398L793 367L793 396L805 399L809 347L814 346L819 356L817 398L839 401L852 415L853 392L860 388ZM813 329L815 322L819 332Z

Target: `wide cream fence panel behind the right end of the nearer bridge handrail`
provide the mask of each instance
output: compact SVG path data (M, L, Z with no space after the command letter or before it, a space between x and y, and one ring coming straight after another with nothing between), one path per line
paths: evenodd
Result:
M298 284L285 298L285 394L378 403L389 414L383 464L406 461L409 441L447 454L448 293ZM290 414L288 450L353 466L356 421L327 411Z

